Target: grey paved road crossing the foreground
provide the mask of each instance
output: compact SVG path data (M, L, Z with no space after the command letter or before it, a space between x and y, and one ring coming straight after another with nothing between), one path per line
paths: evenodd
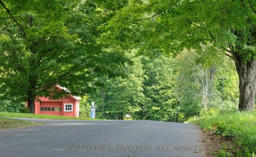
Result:
M195 124L30 120L45 124L0 132L0 156L203 156Z

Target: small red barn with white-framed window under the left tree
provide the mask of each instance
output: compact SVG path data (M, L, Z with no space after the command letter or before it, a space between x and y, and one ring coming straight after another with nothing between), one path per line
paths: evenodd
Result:
M67 89L55 86L57 90ZM59 115L59 116L70 116L79 117L79 100L81 98L77 96L63 96L59 100L50 100L44 96L36 97L35 100L35 114L47 114L47 115ZM26 107L28 107L28 102L26 102Z

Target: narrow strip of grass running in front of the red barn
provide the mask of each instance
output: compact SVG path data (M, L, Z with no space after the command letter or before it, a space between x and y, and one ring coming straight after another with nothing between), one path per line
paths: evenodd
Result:
M12 112L0 112L0 117L28 117L28 118L39 118L39 119L70 119L70 120L87 120L97 121L102 119L93 119L90 117L66 117L66 116L54 116L54 115L43 115L43 114L22 114Z

